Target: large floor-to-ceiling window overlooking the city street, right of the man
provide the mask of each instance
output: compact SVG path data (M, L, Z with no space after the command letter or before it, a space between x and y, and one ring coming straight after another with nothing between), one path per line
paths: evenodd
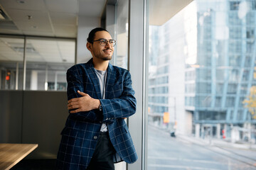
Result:
M148 3L147 169L254 169L256 1Z

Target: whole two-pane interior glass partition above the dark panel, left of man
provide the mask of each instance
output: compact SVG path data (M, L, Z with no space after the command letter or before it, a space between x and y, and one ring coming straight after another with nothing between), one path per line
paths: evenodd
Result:
M23 37L0 37L0 89L65 91L65 73L75 64L75 40L29 37L26 52L24 42Z

